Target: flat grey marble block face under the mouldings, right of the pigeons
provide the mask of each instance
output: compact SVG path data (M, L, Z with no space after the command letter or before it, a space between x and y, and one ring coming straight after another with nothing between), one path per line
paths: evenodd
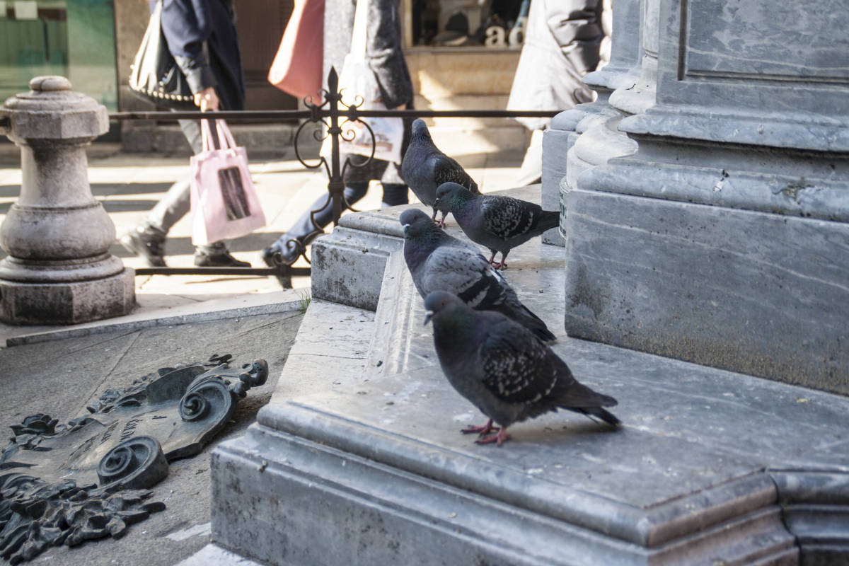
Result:
M573 190L565 328L849 395L849 224Z

